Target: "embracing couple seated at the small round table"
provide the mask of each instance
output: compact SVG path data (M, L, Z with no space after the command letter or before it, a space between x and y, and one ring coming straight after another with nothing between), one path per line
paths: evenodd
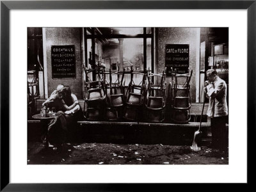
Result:
M43 106L56 108L57 113L61 114L59 118L52 119L47 125L47 132L44 132L42 138L43 143L48 145L46 142L49 141L52 145L60 147L61 143L64 143L67 137L76 131L76 122L83 115L81 106L70 87L63 84L58 85Z

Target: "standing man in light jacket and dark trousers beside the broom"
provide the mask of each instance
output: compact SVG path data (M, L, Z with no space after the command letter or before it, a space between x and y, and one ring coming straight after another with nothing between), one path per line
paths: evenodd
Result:
M227 84L217 76L214 69L206 72L208 81L205 81L205 94L209 99L207 116L211 117L212 148L221 152L228 152L228 134L226 122L228 116Z

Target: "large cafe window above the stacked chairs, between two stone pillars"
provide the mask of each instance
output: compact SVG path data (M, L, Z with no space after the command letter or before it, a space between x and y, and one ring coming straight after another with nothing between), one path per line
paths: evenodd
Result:
M154 72L153 28L84 28L86 67Z

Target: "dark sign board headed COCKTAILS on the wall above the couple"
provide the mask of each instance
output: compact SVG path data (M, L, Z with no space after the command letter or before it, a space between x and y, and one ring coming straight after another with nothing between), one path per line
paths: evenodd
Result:
M52 79L76 78L75 45L52 45Z

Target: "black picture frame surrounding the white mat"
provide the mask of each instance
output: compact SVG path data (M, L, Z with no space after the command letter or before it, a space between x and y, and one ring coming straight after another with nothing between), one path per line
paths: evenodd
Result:
M247 120L248 184L253 182L255 150L256 2L253 1L1 1L1 191L137 191L138 184L12 184L10 183L10 10L41 9L243 9L248 13ZM238 76L238 74L237 74ZM239 106L237 106L238 108ZM140 184L141 187L141 184ZM143 184L143 191L162 191L165 184Z

